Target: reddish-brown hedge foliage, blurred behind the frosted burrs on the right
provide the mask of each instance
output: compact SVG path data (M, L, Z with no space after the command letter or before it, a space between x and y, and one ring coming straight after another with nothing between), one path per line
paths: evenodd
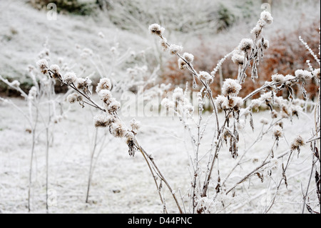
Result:
M315 59L311 56L310 52L307 51L305 46L298 39L302 36L302 39L307 42L310 48L315 54L319 53L320 44L320 21L315 21L308 27L300 27L299 29L292 31L290 34L285 34L284 31L277 31L275 35L270 38L270 48L265 50L265 58L263 62L260 62L258 66L259 81L253 82L250 78L251 69L246 72L248 77L245 79L245 83L242 85L243 89L240 91L240 96L246 96L251 91L257 89L263 85L265 81L271 81L273 74L295 74L297 69L309 70L306 61L310 60L312 66L318 68L315 64ZM226 46L226 50L233 50L234 47ZM195 55L193 65L195 69L199 71L211 72L215 68L216 64L220 59L223 58L224 54L217 51L222 49L222 44L206 44L202 42L200 46L195 47L195 50L188 50L190 53ZM166 64L167 68L161 75L161 81L163 83L171 83L175 86L185 86L186 81L192 81L190 72L186 70L180 70L178 68L177 58L173 57L168 60ZM236 78L238 75L238 66L233 64L230 57L225 60L221 66L223 79L225 78ZM215 75L215 82L211 84L213 90L213 96L220 94L220 83L219 83L220 72ZM190 83L191 86L191 83ZM317 96L317 84L314 80L305 81L305 89L310 99L315 99ZM190 87L190 89L192 89ZM302 91L300 86L295 86L295 95L302 98ZM192 89L193 90L193 89ZM288 92L282 91L283 96L287 97ZM278 94L280 95L280 94ZM259 94L253 96L257 98Z

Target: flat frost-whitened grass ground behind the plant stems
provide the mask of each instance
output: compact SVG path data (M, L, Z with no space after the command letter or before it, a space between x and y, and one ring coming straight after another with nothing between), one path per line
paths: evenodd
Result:
M26 102L14 99L15 104L27 111ZM64 108L70 104L64 104ZM250 145L255 140L255 134L260 131L260 118L268 117L267 112L254 114L255 132L250 124L242 131L240 147ZM114 139L107 134L101 154L96 163L91 184L90 203L86 204L87 178L91 149L93 147L93 112L86 107L71 106L66 117L54 127L54 137L49 150L49 197L53 206L52 213L161 213L163 206L158 197L153 178L149 173L146 162L141 154L129 157L124 142ZM287 151L287 142L291 142L297 134L305 139L310 137L312 126L307 123L311 114L302 114L300 119L285 120L285 138L275 156ZM9 104L0 104L0 212L24 213L28 212L28 183L29 162L31 156L31 134L26 131L28 124L19 111ZM172 117L144 117L141 121L142 129L138 140L148 153L152 153L158 167L172 185L175 192L185 195L190 187L190 167L186 151L190 147L188 137L178 119ZM130 119L124 117L124 121ZM39 127L41 131L41 127ZM98 138L103 136L99 132ZM230 188L259 164L272 147L272 135L266 135L263 140L250 149L243 159L244 163L233 172L226 189ZM285 141L286 139L286 141ZM98 147L101 140L98 140ZM205 135L203 153L209 146L210 134ZM34 164L34 179L32 185L32 211L46 212L46 156L45 140L40 137L36 143L36 162ZM240 155L243 150L240 150ZM275 192L275 183L282 178L282 162L280 159L277 169L273 169L275 176L268 177L264 172L265 182L258 177L247 180L237 188L235 198L230 200L230 207L218 212L232 213L260 213L265 209L265 200L271 199ZM220 176L225 179L235 164L228 152L223 148L220 153ZM302 187L305 189L310 177L311 152L309 146L302 148L300 157L292 158L287 170L288 187L282 184L272 213L300 213L302 210ZM278 174L276 174L278 173ZM213 187L216 175L213 177ZM269 189L267 191L267 189ZM315 185L311 184L311 191ZM214 195L214 189L213 195ZM269 194L267 195L267 192ZM177 212L173 199L165 190L166 204L169 212ZM314 194L310 194L310 202L314 202ZM186 199L187 197L185 197ZM188 202L186 207L188 207ZM313 203L312 203L313 204Z

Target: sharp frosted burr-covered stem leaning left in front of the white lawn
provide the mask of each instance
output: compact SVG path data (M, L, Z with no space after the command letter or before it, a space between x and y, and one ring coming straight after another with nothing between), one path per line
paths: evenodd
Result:
M128 154L130 156L135 156L136 152L141 152L143 158L146 160L149 170L153 176L154 182L158 189L159 197L163 203L164 212L168 212L165 206L165 199L161 193L163 183L168 187L170 193L175 200L175 203L178 207L180 213L183 213L183 209L180 207L180 202L175 195L172 187L168 180L164 177L161 169L158 168L156 162L153 159L151 154L148 154L141 144L138 143L136 135L138 134L139 123L133 119L130 123L130 127L127 127L126 124L121 120L118 115L118 110L121 108L121 103L117 101L113 94L111 93L111 80L108 78L101 78L98 85L96 86L96 93L101 99L101 105L98 102L94 101L91 94L91 80L81 77L73 77L72 81L66 81L68 79L68 74L57 74L55 71L52 71L48 67L41 69L45 74L49 74L51 78L56 79L61 85L68 86L73 93L69 94L67 100L73 104L78 102L81 106L92 106L98 111L101 111L101 114L97 114L93 117L93 124L95 127L108 128L111 135L115 138L123 139L124 142L128 145Z

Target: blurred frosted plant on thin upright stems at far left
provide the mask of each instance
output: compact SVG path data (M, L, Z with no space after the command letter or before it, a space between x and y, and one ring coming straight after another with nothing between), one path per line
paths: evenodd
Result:
M20 82L18 80L8 81L4 79L0 75L0 80L5 84L10 86L12 89L18 91L21 96L26 100L29 111L26 113L19 106L14 104L14 101L10 99L0 98L1 101L4 101L8 104L14 106L17 110L24 115L27 122L29 122L29 131L31 132L31 158L30 158L30 167L29 167L29 189L28 189L28 209L31 211L31 191L33 180L33 168L34 168L34 157L35 157L35 149L36 142L39 139L41 134L45 134L46 145L44 147L44 151L46 154L46 210L49 211L49 147L50 143L54 140L54 125L57 122L60 122L63 119L64 111L59 113L57 109L63 103L63 96L56 96L54 85L55 81L51 79L49 76L44 77L42 74L47 74L48 70L56 72L56 74L60 74L61 69L57 65L49 66L50 62L50 51L45 48L39 54L43 59L39 59L36 62L36 66L29 65L28 66L28 75L31 78L34 86L29 89L29 92L26 93L20 87ZM36 71L36 67L38 67L42 74L38 74ZM46 108L44 113L43 109Z

